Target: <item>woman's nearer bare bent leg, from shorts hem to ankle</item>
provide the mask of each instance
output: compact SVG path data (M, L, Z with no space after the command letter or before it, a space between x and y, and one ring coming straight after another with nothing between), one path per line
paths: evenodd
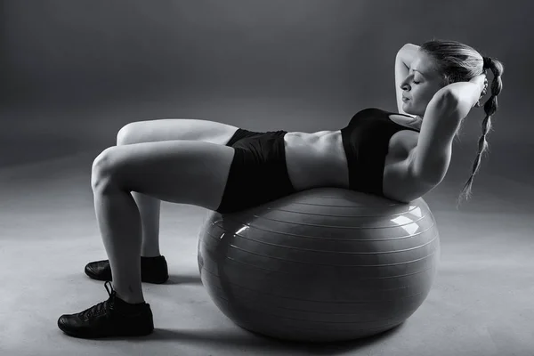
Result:
M113 287L127 303L141 303L142 217L131 194L215 210L223 198L234 149L195 141L114 146L93 162L97 222Z

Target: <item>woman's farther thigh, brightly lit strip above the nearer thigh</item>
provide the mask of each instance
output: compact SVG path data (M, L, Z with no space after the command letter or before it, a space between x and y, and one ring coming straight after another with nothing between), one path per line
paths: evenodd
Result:
M136 121L122 127L117 145L162 141L202 141L225 145L238 127L197 118L162 118Z

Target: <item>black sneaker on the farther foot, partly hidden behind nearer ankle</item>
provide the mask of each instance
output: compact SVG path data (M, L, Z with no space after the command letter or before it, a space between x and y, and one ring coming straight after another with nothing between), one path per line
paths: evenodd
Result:
M109 260L87 263L85 274L92 279L113 280ZM147 283L162 284L169 279L165 256L141 257L141 280Z

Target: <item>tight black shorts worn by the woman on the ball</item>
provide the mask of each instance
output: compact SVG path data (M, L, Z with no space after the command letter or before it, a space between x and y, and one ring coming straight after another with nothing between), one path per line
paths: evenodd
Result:
M257 133L238 129L226 145L235 150L223 200L215 211L232 213L295 192L286 166L287 131Z

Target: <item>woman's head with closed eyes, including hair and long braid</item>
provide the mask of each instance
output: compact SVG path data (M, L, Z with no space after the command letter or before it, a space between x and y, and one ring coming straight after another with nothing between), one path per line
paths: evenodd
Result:
M460 199L465 195L469 198L473 176L477 173L480 166L481 154L488 149L486 135L491 130L491 116L498 109L497 96L503 87L501 80L504 71L503 64L490 57L483 57L481 53L467 44L461 44L456 41L432 40L421 44L417 60L414 61L411 69L409 71L409 78L407 78L409 83L406 80L402 82L402 85L405 85L402 86L402 89L405 90L404 93L409 98L409 95L412 95L414 101L405 101L403 109L406 107L405 111L407 113L421 117L425 115L426 106L432 99L433 94L441 89L441 87L456 82L468 82L473 77L486 73L486 69L490 69L493 73L491 96L484 104L486 116L481 124L482 135L479 140L478 154L473 164L471 177L465 183L464 190L460 196ZM414 76L413 69L425 69L429 72L427 81L422 80L420 87L414 84L414 79L418 82L417 78L421 76L418 76L417 72L415 72ZM421 79L425 78L421 77Z

